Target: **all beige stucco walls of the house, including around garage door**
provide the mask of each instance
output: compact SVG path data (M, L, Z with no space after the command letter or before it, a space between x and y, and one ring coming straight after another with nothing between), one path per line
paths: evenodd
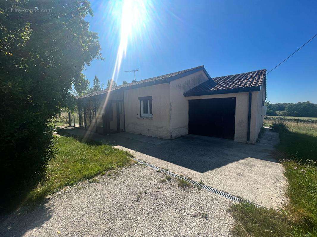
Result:
M188 134L188 100L236 97L235 141L247 142L249 93L231 93L184 97L184 92L208 80L198 71L170 83L124 91L126 131L146 136L174 139ZM250 143L256 143L263 124L261 106L264 86L252 92ZM152 119L140 119L138 97L152 96Z

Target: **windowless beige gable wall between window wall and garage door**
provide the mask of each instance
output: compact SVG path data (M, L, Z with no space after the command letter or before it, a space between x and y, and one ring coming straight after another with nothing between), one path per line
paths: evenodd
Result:
M207 80L201 70L170 82L170 139L188 134L188 100L184 92Z

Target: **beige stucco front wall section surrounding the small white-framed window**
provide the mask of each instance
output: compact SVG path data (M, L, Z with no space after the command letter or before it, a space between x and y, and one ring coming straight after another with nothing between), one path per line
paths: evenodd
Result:
M139 119L139 97L152 96L152 119ZM170 84L158 84L124 91L126 131L170 139ZM148 131L149 130L149 131Z

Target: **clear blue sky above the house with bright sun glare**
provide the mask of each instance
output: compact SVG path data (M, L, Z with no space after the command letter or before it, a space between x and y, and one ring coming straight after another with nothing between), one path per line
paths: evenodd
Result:
M120 42L113 2L91 1L90 29L105 60L83 73L106 84ZM128 42L117 83L204 65L211 77L273 69L317 33L317 1L156 1ZM271 103L317 103L317 37L267 75Z

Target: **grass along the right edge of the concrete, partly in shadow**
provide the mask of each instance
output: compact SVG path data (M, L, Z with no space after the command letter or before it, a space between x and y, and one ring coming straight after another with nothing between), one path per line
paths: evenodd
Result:
M273 126L280 134L277 146L285 168L288 198L279 211L234 204L235 236L317 236L317 125L286 123ZM311 160L311 161L309 161Z

